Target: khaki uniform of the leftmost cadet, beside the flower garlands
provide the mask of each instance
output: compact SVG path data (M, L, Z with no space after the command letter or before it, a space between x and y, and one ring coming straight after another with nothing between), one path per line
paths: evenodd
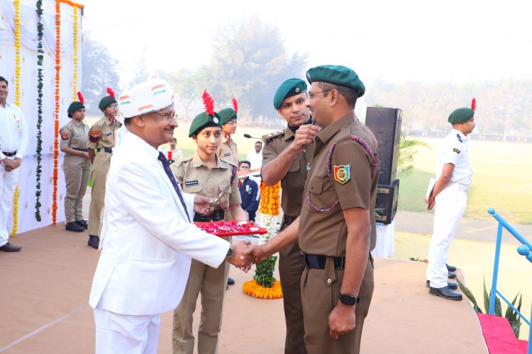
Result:
M60 149L72 149L87 152L89 125L77 120L70 120L60 130ZM83 196L87 190L91 161L84 156L65 154L63 160L67 195L65 195L65 217L68 222L83 219Z

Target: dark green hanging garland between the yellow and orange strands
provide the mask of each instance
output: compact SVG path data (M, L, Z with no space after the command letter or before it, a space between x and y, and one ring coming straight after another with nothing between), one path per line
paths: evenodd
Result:
M35 219L40 222L40 195L43 193L40 177L43 173L43 0L37 1L37 147L35 149L37 168L35 169Z

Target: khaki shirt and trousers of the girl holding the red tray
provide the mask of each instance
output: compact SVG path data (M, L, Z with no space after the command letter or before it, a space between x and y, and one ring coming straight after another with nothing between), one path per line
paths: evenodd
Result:
M184 193L203 195L216 198L221 191L231 184L221 198L223 210L229 205L242 202L238 190L236 166L224 159L217 159L218 165L209 169L197 154L186 157L172 164L172 172L181 184ZM223 215L215 210L215 219ZM197 214L196 214L197 215ZM197 219L194 221L207 221ZM192 315L196 309L196 301L201 292L201 321L198 329L198 353L216 353L218 333L221 329L223 295L226 291L229 265L223 262L218 268L192 260L189 280L185 287L183 299L174 310L174 329L172 332L173 353L193 353L194 333L192 333Z

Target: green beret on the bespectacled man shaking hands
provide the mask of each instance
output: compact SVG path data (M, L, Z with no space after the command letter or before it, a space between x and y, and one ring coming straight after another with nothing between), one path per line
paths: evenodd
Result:
M310 84L317 81L348 87L357 91L358 97L362 97L366 91L357 73L353 69L342 65L321 65L319 67L313 67L306 72L306 79Z

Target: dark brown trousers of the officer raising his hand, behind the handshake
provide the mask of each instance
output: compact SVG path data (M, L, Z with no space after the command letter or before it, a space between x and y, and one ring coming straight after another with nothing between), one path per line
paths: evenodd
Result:
M279 252L279 276L281 278L284 321L287 337L284 341L285 354L305 354L303 307L301 305L301 274L305 269L301 261L299 244L288 246Z

